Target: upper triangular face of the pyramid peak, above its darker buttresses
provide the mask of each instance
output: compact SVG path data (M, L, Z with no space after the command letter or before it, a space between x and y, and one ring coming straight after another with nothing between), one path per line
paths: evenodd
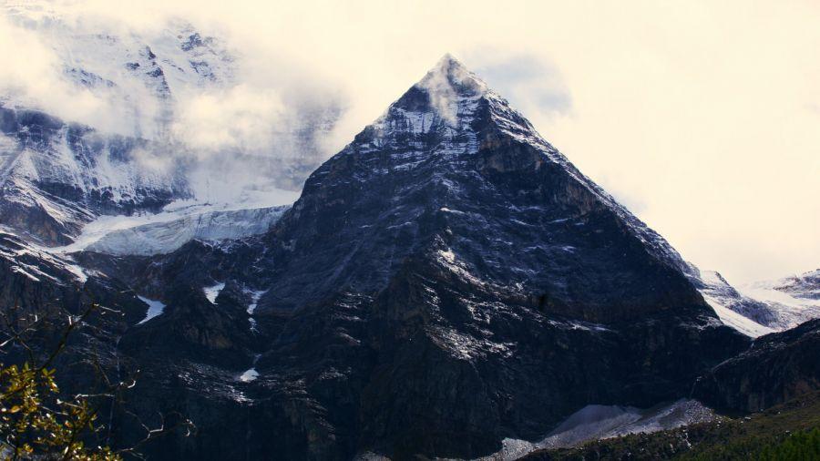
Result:
M305 287L377 291L427 255L588 320L709 312L666 241L449 55L313 173L273 235L286 276L269 301L287 308Z

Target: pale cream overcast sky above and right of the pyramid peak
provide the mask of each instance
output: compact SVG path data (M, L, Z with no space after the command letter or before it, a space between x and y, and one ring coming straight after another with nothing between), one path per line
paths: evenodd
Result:
M254 87L309 76L344 94L328 155L450 52L702 269L820 267L816 1L269 3L73 9L138 28L182 16L258 56L240 76Z

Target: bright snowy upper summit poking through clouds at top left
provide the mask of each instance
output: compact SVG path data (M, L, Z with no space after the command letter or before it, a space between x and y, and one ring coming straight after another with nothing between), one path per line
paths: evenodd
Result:
M124 118L118 128L136 138L167 138L180 97L234 83L234 53L182 20L147 36L73 15L59 2L10 2L5 15L54 51L57 77L117 108ZM3 95L7 107L36 107L11 89Z

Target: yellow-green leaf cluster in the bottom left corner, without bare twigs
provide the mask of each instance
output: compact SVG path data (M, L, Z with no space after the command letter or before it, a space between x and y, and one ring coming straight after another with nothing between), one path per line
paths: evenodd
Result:
M87 447L101 429L86 397L59 398L54 370L0 365L0 459L121 459L108 447Z

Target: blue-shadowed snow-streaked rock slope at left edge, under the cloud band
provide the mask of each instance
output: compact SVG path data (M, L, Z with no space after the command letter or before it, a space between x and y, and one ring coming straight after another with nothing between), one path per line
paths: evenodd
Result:
M99 215L157 211L189 198L183 165L144 161L168 148L0 105L0 224L66 244Z

